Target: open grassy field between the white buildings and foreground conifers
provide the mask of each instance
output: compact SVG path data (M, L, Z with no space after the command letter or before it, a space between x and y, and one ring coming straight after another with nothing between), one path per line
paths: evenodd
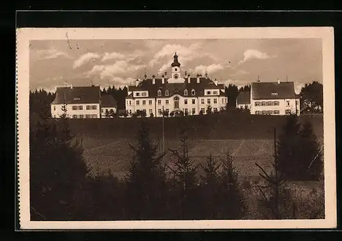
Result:
M264 117L264 118L261 118ZM319 139L323 141L323 118L310 119ZM70 119L71 130L82 139L84 156L92 173L111 172L122 178L132 160L129 143L135 144L135 135L141 118L116 119ZM150 128L153 141L161 147L161 118L144 118ZM203 163L209 154L220 158L229 150L235 157L235 166L241 177L257 177L259 169L254 164L269 170L272 167L274 141L272 126L281 132L284 117L244 115L236 118L224 115L197 116L181 119L165 119L165 147L179 149L180 125L190 126L187 141L189 156ZM268 125L268 126L267 126ZM271 127L269 127L271 126ZM164 158L172 162L168 154Z

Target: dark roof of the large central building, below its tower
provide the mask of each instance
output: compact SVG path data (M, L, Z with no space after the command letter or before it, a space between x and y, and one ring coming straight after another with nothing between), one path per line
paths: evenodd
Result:
M205 89L224 89L223 84L215 85L211 79L200 78L200 83L197 83L197 78L190 78L190 83L187 83L187 78L185 78L184 83L161 83L161 79L155 79L155 84L153 85L152 79L146 79L139 83L138 86L129 86L129 91L149 91L149 97L157 97L158 89L161 90L161 96L165 96L165 91L168 89L169 95L173 96L174 94L179 94L180 96L184 96L184 90L187 89L187 96L191 96L192 89L195 89L196 96L204 96ZM224 95L222 91L220 91L221 95ZM130 96L127 96L130 98Z

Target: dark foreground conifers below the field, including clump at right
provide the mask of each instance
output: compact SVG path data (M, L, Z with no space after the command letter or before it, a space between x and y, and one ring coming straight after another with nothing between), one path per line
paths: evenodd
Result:
M130 145L134 154L127 175L119 180L112 173L90 174L83 158L82 139L71 134L66 109L60 119L51 119L49 115L30 119L31 219L194 220L248 217L248 197L244 194L240 179L243 174L236 169L234 156L229 150L220 158L208 154L207 160L199 164L188 153L187 130L191 124L187 117L180 117L180 120L179 149L158 152L142 119L136 143ZM281 176L281 184L291 180L317 181L321 178L322 156L310 122L299 124L296 116L289 117L276 147L278 164L274 168L276 173L281 173L278 176ZM172 161L166 161L166 155L171 156ZM263 167L259 167L267 181L273 186L274 183L280 186L280 182L269 178L274 174L267 174ZM267 190L260 188L262 197L265 196L260 200L261 212L267 213L267 210L274 210L275 206L280 207L284 203L297 205L295 199L288 200L291 198L289 190L278 188L274 192L272 185L266 186ZM293 218L292 214L289 218ZM274 212L267 215L267 218L280 217Z

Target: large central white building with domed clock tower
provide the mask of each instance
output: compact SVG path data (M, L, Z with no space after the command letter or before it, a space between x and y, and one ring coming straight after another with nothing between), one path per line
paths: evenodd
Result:
M220 111L228 102L224 94L224 85L212 81L208 75L198 74L191 77L181 71L181 63L174 54L170 77L165 72L161 79L152 76L142 81L137 80L135 86L129 86L126 98L126 112L129 116L137 111L146 112L161 117L163 111L176 113L183 111L185 115L206 114L207 110Z

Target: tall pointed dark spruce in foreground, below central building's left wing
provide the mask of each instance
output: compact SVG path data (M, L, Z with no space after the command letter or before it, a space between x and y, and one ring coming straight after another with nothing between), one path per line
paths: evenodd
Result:
M135 156L127 174L127 204L131 219L148 220L163 217L166 176L161 165L164 154L157 156L157 146L150 140L145 122L137 134Z

